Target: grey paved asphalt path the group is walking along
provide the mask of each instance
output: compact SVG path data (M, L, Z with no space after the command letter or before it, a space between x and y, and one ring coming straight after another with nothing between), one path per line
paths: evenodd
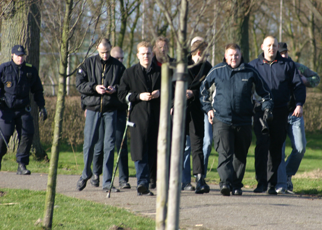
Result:
M58 175L56 192L80 199L118 206L132 213L155 217L156 196L136 195L136 179L130 178L131 189L120 193L107 193L92 187L76 191L80 176ZM102 180L102 177L100 178ZM46 190L47 174L16 175L0 172L1 188ZM182 191L180 197L181 229L273 229L273 230L321 230L322 199L298 195L269 196L243 189L242 196L222 196L218 185L210 185L209 194ZM156 193L156 190L151 190Z

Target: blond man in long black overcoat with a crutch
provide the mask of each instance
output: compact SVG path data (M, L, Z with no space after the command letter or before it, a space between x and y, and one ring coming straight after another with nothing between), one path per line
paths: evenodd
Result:
M149 191L150 168L157 152L157 135L160 114L161 68L152 63L152 45L137 44L140 62L124 72L118 97L131 102L130 127L131 158L134 161L138 195L153 195Z

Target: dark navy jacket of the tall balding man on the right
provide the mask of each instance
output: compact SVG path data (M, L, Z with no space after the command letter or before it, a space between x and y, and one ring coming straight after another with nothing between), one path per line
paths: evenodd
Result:
M278 52L275 60L269 63L264 59L264 53L262 53L249 64L256 68L270 88L274 108L287 106L291 94L294 94L296 106L303 106L306 99L306 89L292 60L283 58Z

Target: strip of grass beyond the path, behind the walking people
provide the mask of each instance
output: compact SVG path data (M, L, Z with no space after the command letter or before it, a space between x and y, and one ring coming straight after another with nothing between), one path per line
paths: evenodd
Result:
M307 133L307 147L306 153L302 160L301 166L295 176L292 177L294 192L298 194L315 194L322 195L322 134ZM257 185L255 179L254 168L254 150L256 138L253 134L252 144L249 148L246 164L246 172L244 176L244 186L246 188L254 188ZM129 146L129 145L128 145ZM50 147L46 147L50 156ZM59 154L58 174L81 175L83 170L83 153L82 146L74 147L75 154L71 146L62 145ZM291 152L290 141L286 142L286 156ZM115 154L115 159L117 154ZM209 158L208 170L206 181L209 183L219 183L219 175L217 173L218 153L212 150ZM45 162L36 162L31 160L28 169L32 173L48 173L49 164ZM5 155L2 161L2 171L16 171L17 163L15 162L15 155ZM129 155L129 174L135 176L134 163ZM192 178L193 180L193 178Z

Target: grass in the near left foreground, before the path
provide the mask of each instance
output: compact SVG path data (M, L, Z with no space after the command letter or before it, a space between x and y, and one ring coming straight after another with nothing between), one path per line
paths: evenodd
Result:
M0 229L42 229L44 191L1 189ZM72 207L72 208L71 208ZM52 229L155 229L154 220L125 209L56 194ZM121 228L123 227L123 228Z

